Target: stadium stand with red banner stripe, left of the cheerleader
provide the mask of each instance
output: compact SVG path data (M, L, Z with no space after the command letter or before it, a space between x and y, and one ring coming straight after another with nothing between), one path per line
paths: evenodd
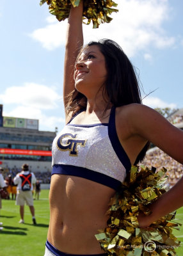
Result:
M0 166L11 175L24 163L29 164L31 172L50 173L55 136L56 132L39 131L38 120L3 116L0 105Z

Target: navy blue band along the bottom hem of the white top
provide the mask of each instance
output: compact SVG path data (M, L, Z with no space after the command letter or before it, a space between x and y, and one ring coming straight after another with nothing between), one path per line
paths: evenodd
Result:
M95 172L93 170L80 167L80 166L54 164L54 166L52 166L51 175L53 174L66 174L66 175L81 177L84 179L98 182L102 185L105 185L109 188L113 188L115 190L118 190L121 186L120 180L116 180L103 173Z

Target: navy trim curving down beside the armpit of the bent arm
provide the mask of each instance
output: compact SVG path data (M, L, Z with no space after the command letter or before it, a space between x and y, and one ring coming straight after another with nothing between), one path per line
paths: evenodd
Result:
M111 144L113 146L113 149L116 152L116 155L118 156L123 166L125 167L126 172L129 172L129 170L131 170L131 161L118 139L118 134L116 132L115 110L116 108L113 106L111 108L111 114L109 117L109 125L108 125L109 140L111 141Z

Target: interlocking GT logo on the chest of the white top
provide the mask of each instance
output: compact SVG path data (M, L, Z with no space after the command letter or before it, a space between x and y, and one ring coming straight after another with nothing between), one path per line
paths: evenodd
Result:
M61 135L57 141L58 148L62 151L69 150L70 156L77 156L77 146L85 147L86 140L76 140L76 137L77 134L73 135L71 133Z

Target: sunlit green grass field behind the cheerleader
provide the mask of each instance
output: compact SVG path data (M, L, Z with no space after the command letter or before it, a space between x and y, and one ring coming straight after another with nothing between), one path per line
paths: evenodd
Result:
M4 229L0 231L0 256L43 256L47 228L49 225L48 190L42 190L40 200L35 200L37 225L32 225L29 207L25 206L25 223L19 224L19 206L13 200L3 200L0 221ZM177 211L179 223L183 225L183 207ZM178 256L183 255L183 226L180 231L175 230L175 236L182 241L176 251Z

